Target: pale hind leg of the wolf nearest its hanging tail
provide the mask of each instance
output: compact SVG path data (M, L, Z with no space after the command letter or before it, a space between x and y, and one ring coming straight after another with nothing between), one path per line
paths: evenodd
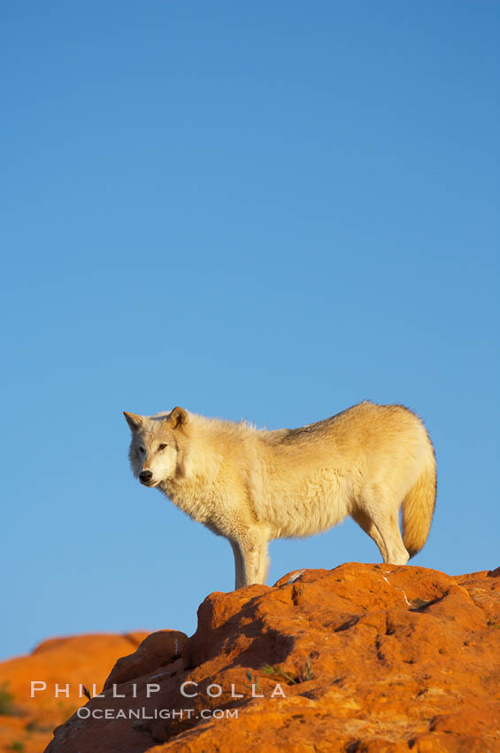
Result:
M388 505L384 499L383 490L375 485L369 491L365 491L363 497L365 501L363 512L378 533L380 543L372 533L369 535L381 550L384 563L406 564L410 555L404 547L399 530L398 506Z

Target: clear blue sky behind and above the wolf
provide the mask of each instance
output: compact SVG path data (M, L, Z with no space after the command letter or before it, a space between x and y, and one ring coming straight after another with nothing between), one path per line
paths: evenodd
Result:
M416 410L414 562L499 562L495 3L4 3L0 654L192 633L225 540L127 465L122 410ZM269 583L378 562L352 522Z

